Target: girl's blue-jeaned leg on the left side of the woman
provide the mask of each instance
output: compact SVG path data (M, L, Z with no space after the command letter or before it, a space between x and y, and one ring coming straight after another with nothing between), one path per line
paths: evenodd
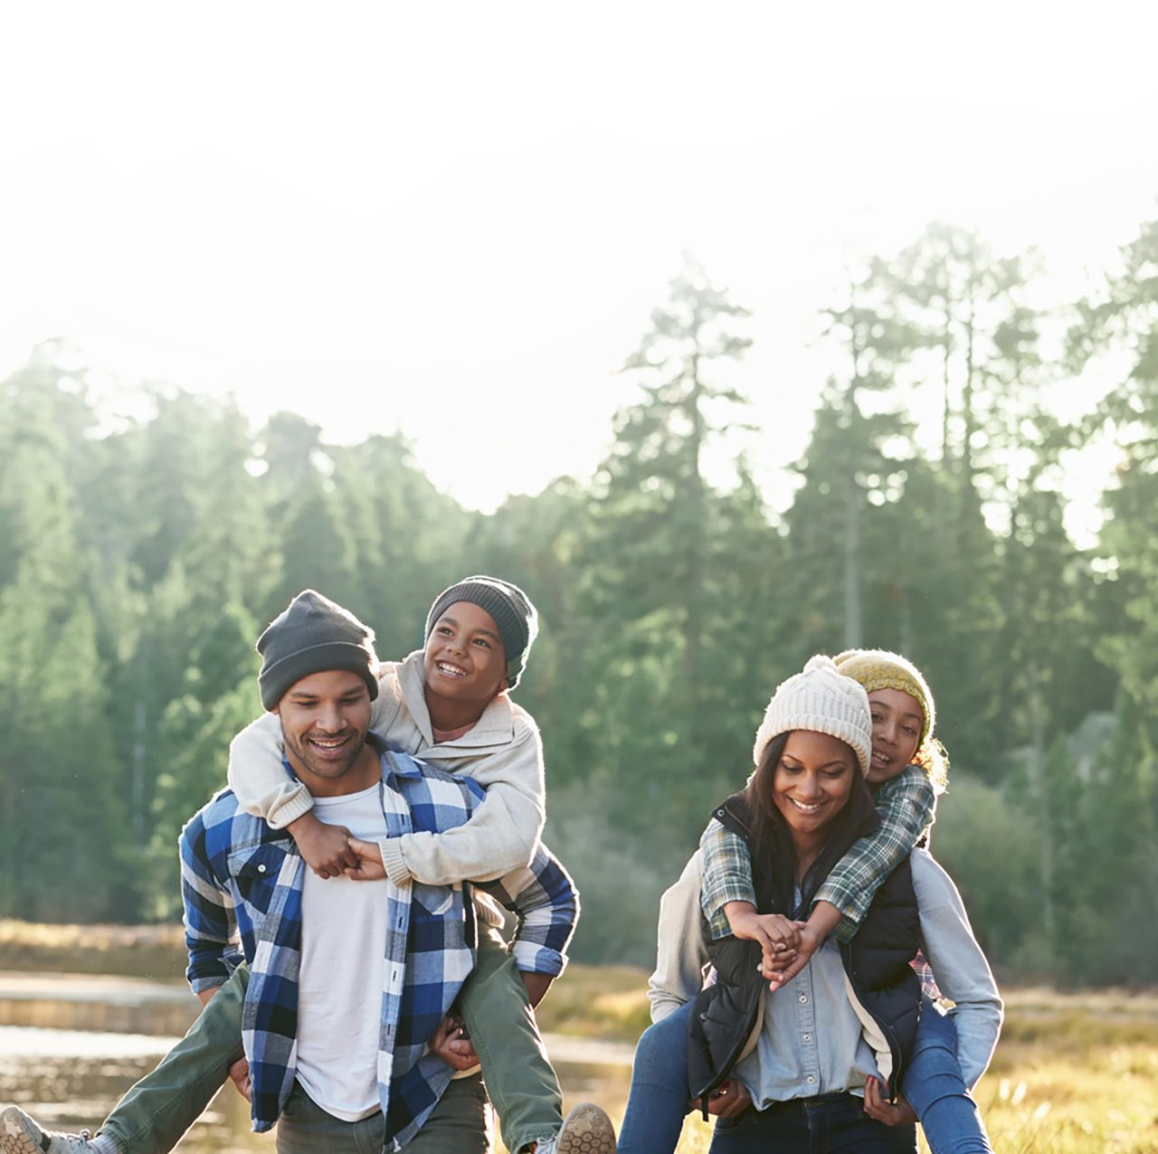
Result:
M636 1046L618 1154L672 1154L688 1112L691 1002L648 1026Z

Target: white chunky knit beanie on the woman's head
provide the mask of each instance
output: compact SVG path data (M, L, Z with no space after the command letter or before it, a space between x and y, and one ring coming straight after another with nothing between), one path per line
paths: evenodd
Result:
M852 747L860 772L868 772L872 760L872 716L868 694L851 677L845 677L831 657L822 653L809 657L804 671L776 686L756 730L752 748L753 764L760 764L764 748L779 734L812 729L838 737Z

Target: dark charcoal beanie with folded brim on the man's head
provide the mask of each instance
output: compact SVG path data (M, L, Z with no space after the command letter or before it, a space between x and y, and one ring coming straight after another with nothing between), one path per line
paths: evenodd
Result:
M353 613L313 589L303 589L270 622L257 639L262 671L257 685L262 705L272 710L302 677L325 669L358 674L378 697L378 655L374 631Z

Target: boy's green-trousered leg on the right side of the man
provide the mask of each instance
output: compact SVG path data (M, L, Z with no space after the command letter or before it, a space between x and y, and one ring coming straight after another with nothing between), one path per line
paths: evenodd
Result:
M527 987L503 939L479 935L478 961L459 994L486 1093L512 1154L558 1134L563 1093L547 1058Z

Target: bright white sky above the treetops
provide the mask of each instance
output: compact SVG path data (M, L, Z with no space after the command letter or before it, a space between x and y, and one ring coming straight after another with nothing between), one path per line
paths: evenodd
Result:
M1039 245L1064 301L1158 213L1153 6L15 8L0 375L67 336L255 420L401 428L482 508L589 475L686 245L755 313L775 502L848 259L947 220Z

